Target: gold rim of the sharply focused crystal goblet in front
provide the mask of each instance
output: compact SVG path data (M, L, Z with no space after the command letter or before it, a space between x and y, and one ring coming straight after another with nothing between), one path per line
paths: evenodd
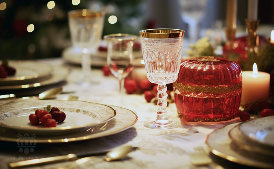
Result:
M140 37L144 38L178 38L184 37L185 31L181 29L146 29L139 31Z

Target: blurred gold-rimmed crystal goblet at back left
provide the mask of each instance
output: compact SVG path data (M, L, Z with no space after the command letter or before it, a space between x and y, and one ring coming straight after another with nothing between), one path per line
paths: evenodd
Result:
M97 51L104 26L104 11L87 9L68 12L70 36L75 50L81 51L81 65L84 83L89 84L91 73L91 56Z

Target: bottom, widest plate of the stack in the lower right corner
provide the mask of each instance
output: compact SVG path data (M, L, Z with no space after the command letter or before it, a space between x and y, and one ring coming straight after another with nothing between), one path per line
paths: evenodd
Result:
M207 136L206 143L211 152L229 161L257 168L274 168L273 157L254 155L252 152L241 151L232 144L228 132L239 123L229 124L214 130Z

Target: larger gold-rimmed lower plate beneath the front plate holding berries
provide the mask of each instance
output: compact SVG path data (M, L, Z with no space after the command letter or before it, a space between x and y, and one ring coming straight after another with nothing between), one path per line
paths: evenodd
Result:
M68 134L36 136L33 133L20 134L9 128L2 127L0 128L0 140L9 142L17 142L18 140L22 140L22 144L29 143L29 140L34 140L34 144L81 141L119 133L123 130L131 128L137 122L138 117L131 110L117 106L111 107L116 110L117 114L113 119L107 122L106 128L102 130L99 129L102 125L96 125L95 127L85 127Z

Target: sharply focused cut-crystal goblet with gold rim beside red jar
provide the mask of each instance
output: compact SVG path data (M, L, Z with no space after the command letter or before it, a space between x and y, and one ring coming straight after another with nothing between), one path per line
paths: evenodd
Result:
M176 121L168 120L166 115L167 83L176 81L179 73L183 47L183 30L148 29L140 31L142 53L150 82L158 84L158 111L155 121L147 122L145 127L155 129L177 128Z

